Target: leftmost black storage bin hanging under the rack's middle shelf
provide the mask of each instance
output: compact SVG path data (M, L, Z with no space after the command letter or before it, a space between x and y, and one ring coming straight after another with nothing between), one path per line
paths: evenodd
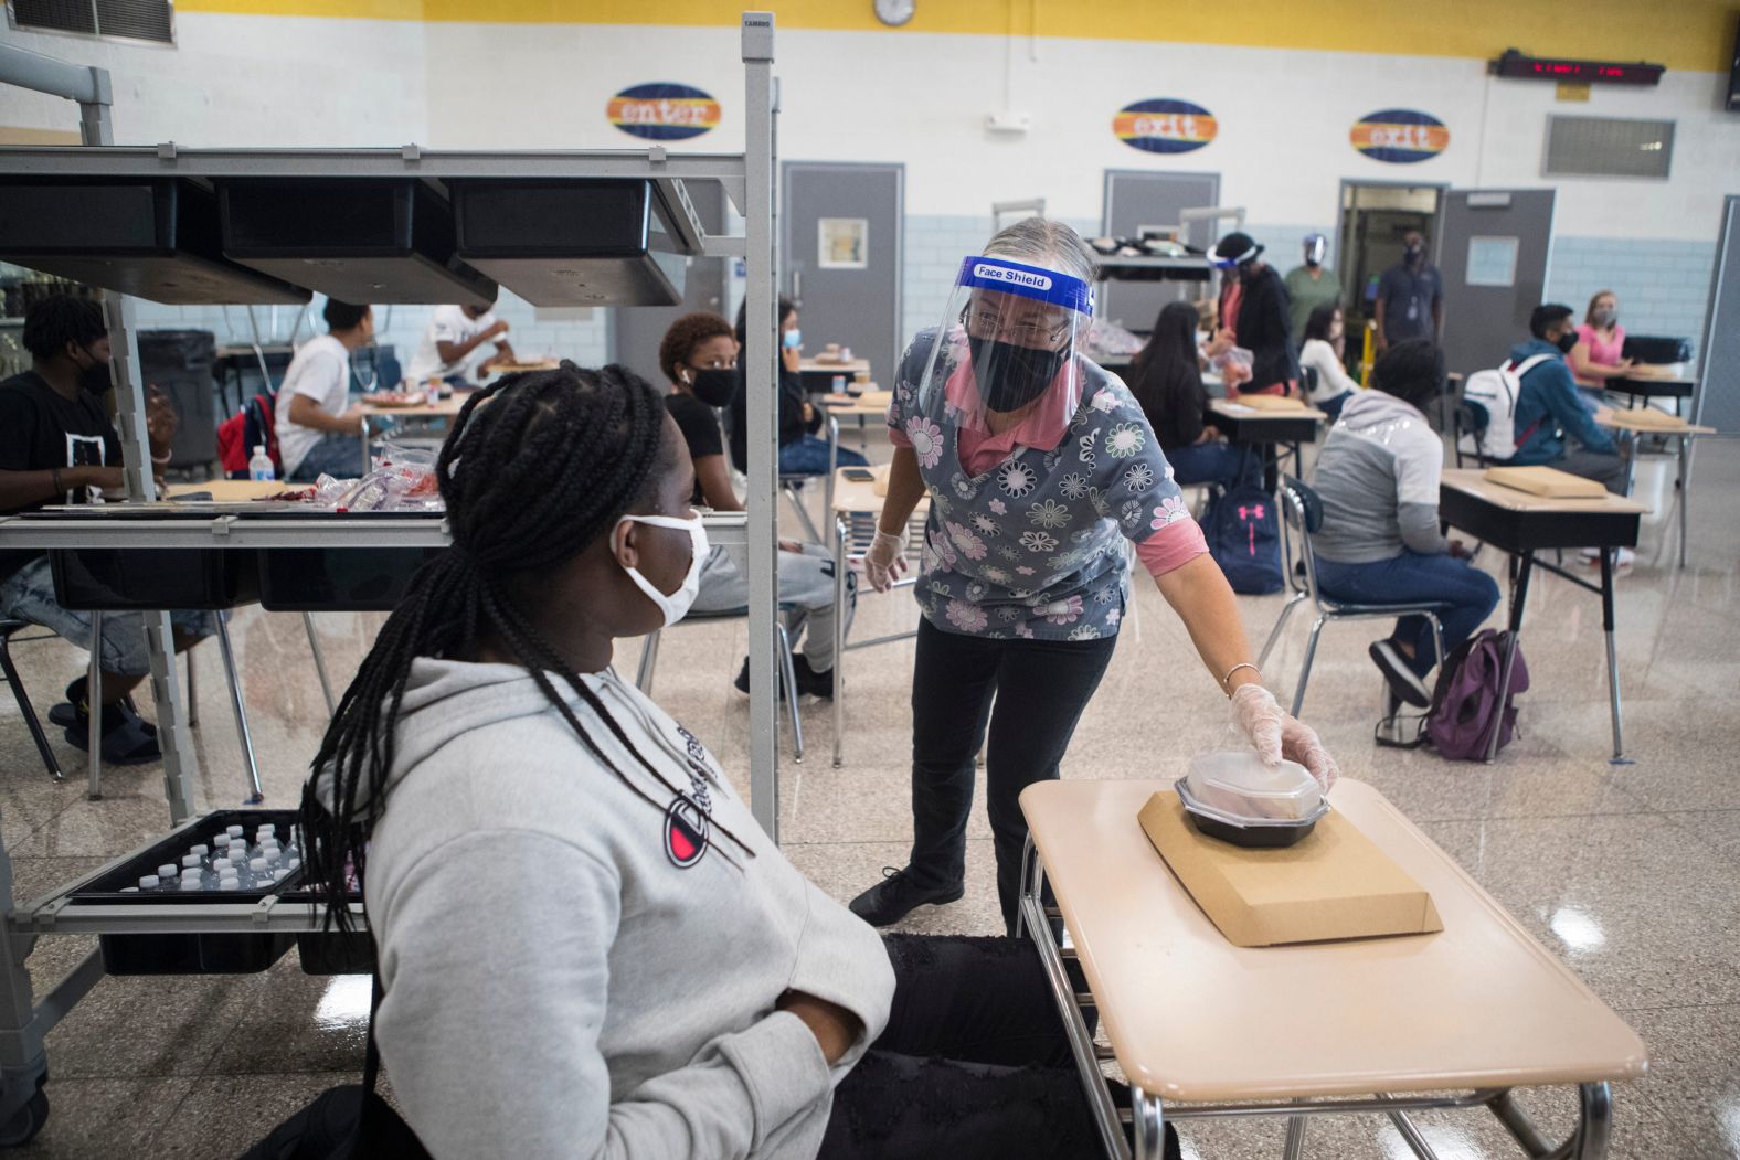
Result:
M233 609L259 600L252 551L226 548L56 548L54 598L68 609Z

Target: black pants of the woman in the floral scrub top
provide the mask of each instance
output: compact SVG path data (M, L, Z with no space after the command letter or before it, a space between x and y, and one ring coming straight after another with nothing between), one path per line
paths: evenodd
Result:
M1021 790L1054 781L1075 722L1100 687L1117 637L985 640L919 623L912 671L912 859L927 887L966 877L973 758L985 751L987 812L997 849L997 901L1014 930L1020 896ZM995 697L995 708L992 699Z

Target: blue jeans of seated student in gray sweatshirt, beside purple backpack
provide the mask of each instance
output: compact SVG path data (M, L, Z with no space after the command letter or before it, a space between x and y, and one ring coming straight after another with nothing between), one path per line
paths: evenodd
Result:
M1444 628L1444 656L1472 637L1498 607L1498 581L1449 555L1402 551L1394 560L1371 563L1336 563L1317 557L1317 586L1322 595L1347 603L1448 603L1449 609L1437 617ZM1409 668L1415 673L1425 677L1432 671L1437 657L1432 652L1432 626L1423 616L1395 621L1390 640L1413 645Z

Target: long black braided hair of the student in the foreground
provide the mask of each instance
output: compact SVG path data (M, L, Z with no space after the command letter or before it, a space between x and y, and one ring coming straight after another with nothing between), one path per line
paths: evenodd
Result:
M489 402L489 407L482 403ZM609 534L670 466L661 454L665 405L635 372L609 365L515 374L478 391L454 419L435 477L452 548L425 563L357 670L315 755L303 791L306 873L327 922L350 929L346 878L360 878L367 840L386 803L398 710L416 657L472 656L487 633L557 708L579 741L659 812L665 802L616 769L557 690L557 675L658 783L673 786L635 748L599 696L534 628L506 579L572 560ZM331 805L320 783L327 781ZM740 850L748 847L719 823ZM708 838L712 842L712 838Z

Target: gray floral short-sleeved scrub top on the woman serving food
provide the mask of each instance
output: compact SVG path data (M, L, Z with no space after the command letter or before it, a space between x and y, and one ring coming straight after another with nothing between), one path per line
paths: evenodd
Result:
M924 332L907 350L887 412L931 496L917 577L924 617L992 640L1115 635L1129 597L1121 539L1143 544L1171 529L1168 537L1201 544L1141 407L1117 376L1079 358L1082 402L1058 445L1016 445L967 475L954 405L943 391L931 412L920 405L931 341Z

